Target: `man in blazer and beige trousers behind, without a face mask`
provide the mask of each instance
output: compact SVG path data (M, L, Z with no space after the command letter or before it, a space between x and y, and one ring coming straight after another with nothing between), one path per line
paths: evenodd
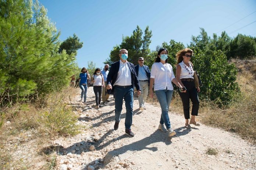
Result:
M139 86L141 87L141 95L138 96L139 109L143 111L146 109L145 101L147 99L147 93L149 91L150 82L150 70L148 66L144 65L144 58L140 57L138 59L138 65L135 66L135 71L138 76Z

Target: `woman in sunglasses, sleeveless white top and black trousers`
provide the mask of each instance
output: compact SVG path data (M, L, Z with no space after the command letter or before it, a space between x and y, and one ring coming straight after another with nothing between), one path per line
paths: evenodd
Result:
M179 83L185 85L187 92L180 93L182 104L183 104L183 112L185 117L185 127L191 128L190 124L195 126L200 126L199 123L196 123L195 117L198 115L199 109L199 98L198 93L200 92L199 87L195 87L194 83L194 70L193 65L190 62L191 57L193 56L192 49L185 48L179 51L176 54L177 57L177 66L176 66L176 78ZM191 111L191 120L188 123L189 119L189 99L192 101L192 111Z

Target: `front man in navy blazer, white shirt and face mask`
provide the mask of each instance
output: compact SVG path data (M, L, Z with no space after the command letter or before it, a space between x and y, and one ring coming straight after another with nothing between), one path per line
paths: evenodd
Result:
M120 116L122 111L122 101L125 101L125 133L134 137L131 131L132 115L133 115L133 95L134 86L138 95L141 94L139 81L135 72L134 64L127 61L128 51L121 49L119 51L120 60L111 65L109 74L107 75L107 89L111 89L111 93L115 95L115 125L114 130L118 129Z

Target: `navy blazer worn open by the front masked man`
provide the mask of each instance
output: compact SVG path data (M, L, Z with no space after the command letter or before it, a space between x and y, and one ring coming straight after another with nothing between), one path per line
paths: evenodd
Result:
M109 94L114 93L114 84L115 84L115 81L117 80L117 73L119 71L119 66L120 66L120 60L111 65L109 74L107 75L107 84L111 83L112 85L112 90L111 92L109 92ZM141 90L139 86L138 77L135 72L134 64L128 62L128 67L131 71L132 87L134 88L135 86L137 90Z

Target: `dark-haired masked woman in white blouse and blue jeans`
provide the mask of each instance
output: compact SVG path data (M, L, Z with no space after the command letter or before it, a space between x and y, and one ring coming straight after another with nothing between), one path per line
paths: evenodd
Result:
M155 63L152 65L151 75L150 75L150 93L149 96L153 97L153 84L154 90L156 92L156 97L159 100L161 106L161 118L158 129L162 132L168 131L168 136L174 136L176 132L171 129L171 123L168 116L168 111L171 103L171 98L173 96L173 82L178 87L184 87L183 84L179 84L173 74L173 67L171 64L167 63L167 49L161 48L158 51ZM186 92L186 91L183 91ZM166 125L166 129L164 127Z

